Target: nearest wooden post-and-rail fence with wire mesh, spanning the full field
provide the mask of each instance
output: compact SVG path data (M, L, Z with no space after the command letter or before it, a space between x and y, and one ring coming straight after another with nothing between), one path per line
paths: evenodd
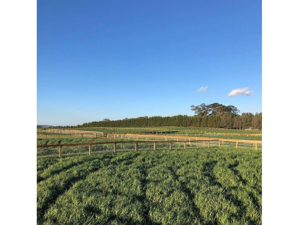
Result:
M187 140L187 141L137 141L130 142L109 142L104 144L97 143L80 143L80 144L64 144L53 147L37 148L37 158L45 157L71 157L71 156L84 156L90 154L106 153L106 152L128 152L128 151L149 151L149 150L191 150L203 148L219 148L231 147L241 149L254 149L254 143L219 141L219 140ZM261 150L262 145L257 144L255 150Z

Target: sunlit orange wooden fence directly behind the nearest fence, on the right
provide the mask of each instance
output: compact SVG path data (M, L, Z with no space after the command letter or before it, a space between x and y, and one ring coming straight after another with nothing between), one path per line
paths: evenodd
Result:
M136 138L138 140L139 139L145 139L145 141L148 141L149 138L151 139L155 139L155 141L159 139L165 139L165 141L167 141L167 139L174 139L174 141L176 140L177 142L179 142L180 139L184 139L184 141L187 141L187 139L189 139L188 141L206 141L206 140L212 140L212 138L203 138L203 137L193 137L193 136L165 136L165 135L150 135L150 134L107 134L107 138L125 138L125 139L134 139ZM219 140L222 142L222 145L224 145L224 142L235 142L236 143L236 148L238 148L239 143L251 143L253 144L253 147L255 148L255 150L257 150L257 144L262 144L262 141L256 141L256 140L239 140L239 139L223 139L223 138L219 138L219 139L213 139L213 140ZM203 142L205 143L205 142Z

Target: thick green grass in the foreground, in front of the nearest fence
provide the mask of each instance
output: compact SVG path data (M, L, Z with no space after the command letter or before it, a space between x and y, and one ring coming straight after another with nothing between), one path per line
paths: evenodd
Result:
M260 150L234 148L38 159L37 221L262 224L261 163Z

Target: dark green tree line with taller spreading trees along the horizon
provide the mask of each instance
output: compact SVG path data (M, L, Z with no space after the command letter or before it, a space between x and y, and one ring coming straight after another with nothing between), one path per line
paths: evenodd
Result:
M253 114L243 112L241 115L237 107L225 106L219 103L200 104L191 106L195 115L174 116L142 116L138 118L124 118L121 120L93 121L77 126L57 126L65 128L81 127L217 127L230 129L262 129L262 113Z

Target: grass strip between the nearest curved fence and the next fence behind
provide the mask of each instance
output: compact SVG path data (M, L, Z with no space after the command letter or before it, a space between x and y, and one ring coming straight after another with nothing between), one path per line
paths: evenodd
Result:
M94 138L49 138L49 139L37 139L37 145L63 145L63 144L77 144L77 143L97 143L97 142L118 142L118 141L133 141L133 143L117 143L116 144L116 152L130 152L135 151L135 142L138 142L137 139L94 139ZM139 139L140 141L140 139ZM144 141L144 139L143 139ZM153 140L152 140L153 141ZM192 140L191 140L192 141ZM171 151L175 150L190 150L198 148L219 148L218 140L211 140L210 145L208 142L198 141L196 142L189 142L188 139L186 143L184 142L173 142L171 144ZM154 150L154 143L152 142L141 142L137 143L138 151L153 151ZM223 148L236 148L235 142L220 142L220 146ZM155 150L165 150L170 149L169 143L155 143ZM241 143L238 144L238 149L244 150L253 150L254 146L252 143ZM261 150L261 145L257 144L257 150ZM113 153L114 152L114 143L110 144L94 144L90 146L91 154L97 153ZM73 145L73 146L62 146L62 157L68 156L82 156L89 154L89 145ZM59 147L45 147L45 148L37 148L37 158L48 158L48 157L59 157Z

